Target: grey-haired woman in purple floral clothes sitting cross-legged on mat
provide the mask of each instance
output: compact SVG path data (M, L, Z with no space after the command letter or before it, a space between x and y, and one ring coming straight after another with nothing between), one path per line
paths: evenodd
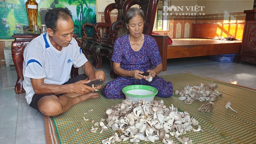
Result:
M158 89L159 97L172 96L172 83L156 76L163 70L162 59L156 40L142 33L145 24L143 11L132 7L124 18L129 33L115 41L111 59L119 77L107 83L102 94L106 98L120 99L125 98L122 88L128 85L149 85ZM143 72L149 72L149 76L143 76ZM153 78L151 82L147 81L150 76Z

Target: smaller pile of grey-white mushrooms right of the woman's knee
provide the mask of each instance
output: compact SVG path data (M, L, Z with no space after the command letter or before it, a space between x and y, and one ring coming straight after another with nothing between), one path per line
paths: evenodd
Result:
M184 90L179 92L179 90L175 90L174 94L180 95L179 100L184 100L186 104L191 104L195 100L203 101L215 101L218 99L218 96L221 95L218 90L215 90L215 83L208 83L206 86L204 84L200 84L199 86L189 87L187 85Z

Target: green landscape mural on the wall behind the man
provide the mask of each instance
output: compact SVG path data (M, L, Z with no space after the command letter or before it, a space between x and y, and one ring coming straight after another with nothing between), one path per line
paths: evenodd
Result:
M0 39L13 39L14 33L22 33L22 27L28 26L27 0L0 0ZM85 22L96 23L96 0L36 0L38 3L37 25L41 27L41 8L67 7L72 12L75 33L82 37L82 25ZM87 28L88 37L92 37L92 27Z

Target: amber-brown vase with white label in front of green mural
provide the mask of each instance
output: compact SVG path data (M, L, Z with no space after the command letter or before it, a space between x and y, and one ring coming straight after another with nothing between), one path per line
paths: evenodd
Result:
M33 30L33 25L37 25L38 4L35 0L28 0L26 2L26 9L28 12L28 22L30 30Z

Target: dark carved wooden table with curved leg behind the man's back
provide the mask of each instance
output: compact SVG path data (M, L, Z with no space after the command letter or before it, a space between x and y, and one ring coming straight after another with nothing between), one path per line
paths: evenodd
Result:
M23 34L14 34L13 38L15 40L11 43L11 54L13 57L13 63L17 72L17 82L14 87L14 90L16 94L22 94L25 92L25 90L22 87L23 84L23 52L24 48L29 44L32 39L35 37L38 37L41 33L37 32L34 33L33 31L24 31ZM77 34L74 34L74 38L78 37ZM78 41L78 45L80 45L80 41ZM71 77L73 78L74 76L78 75L78 68L72 67L71 70Z

